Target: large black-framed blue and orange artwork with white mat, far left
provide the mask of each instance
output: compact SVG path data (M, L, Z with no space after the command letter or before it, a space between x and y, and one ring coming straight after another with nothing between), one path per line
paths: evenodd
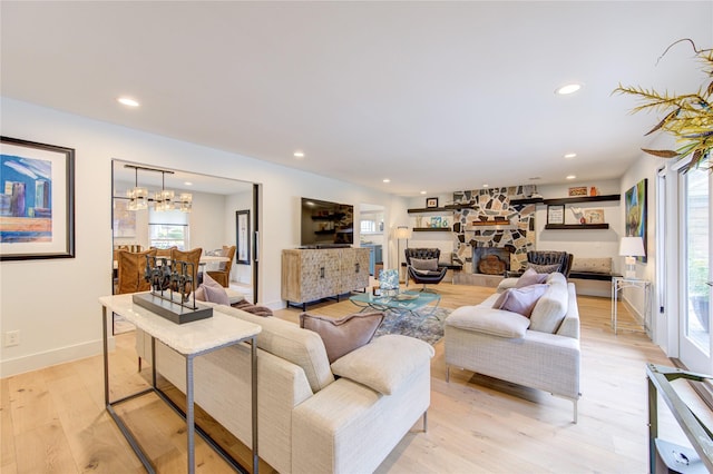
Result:
M0 137L0 260L75 258L75 150Z

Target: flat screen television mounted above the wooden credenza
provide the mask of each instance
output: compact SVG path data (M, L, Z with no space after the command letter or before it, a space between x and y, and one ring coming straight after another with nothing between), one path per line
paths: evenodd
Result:
M351 247L354 243L354 206L302 198L303 248Z

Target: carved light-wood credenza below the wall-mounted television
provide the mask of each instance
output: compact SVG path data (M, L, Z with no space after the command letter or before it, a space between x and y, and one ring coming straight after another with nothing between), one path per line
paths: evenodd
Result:
M368 248L282 250L282 299L302 305L369 286Z

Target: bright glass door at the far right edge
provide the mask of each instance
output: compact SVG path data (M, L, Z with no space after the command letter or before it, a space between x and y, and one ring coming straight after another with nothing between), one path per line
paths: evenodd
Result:
M713 373L711 353L711 184L705 168L681 177L681 361L694 372Z

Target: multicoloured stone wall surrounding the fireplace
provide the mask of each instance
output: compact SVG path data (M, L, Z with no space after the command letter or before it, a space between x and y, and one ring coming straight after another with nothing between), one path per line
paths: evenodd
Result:
M456 253L467 261L463 271L472 273L472 246L512 246L510 268L517 270L527 261L527 251L535 249L535 205L512 205L510 199L525 199L535 192L535 186L476 189L453 192L453 231L458 239ZM460 207L459 207L460 206ZM476 220L505 218L504 228L472 228Z

